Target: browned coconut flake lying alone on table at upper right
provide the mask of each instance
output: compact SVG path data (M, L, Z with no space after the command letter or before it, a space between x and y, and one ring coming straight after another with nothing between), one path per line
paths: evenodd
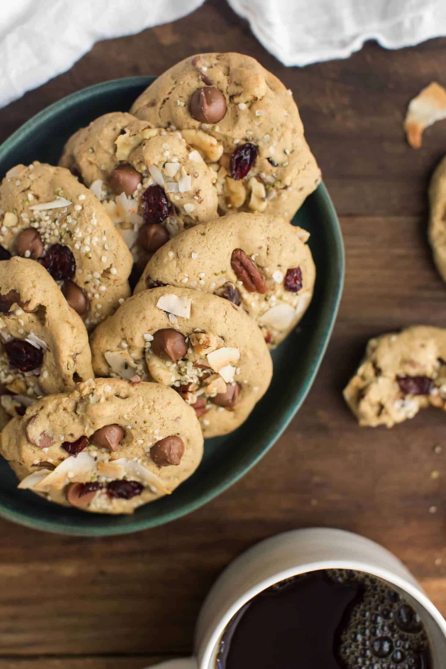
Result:
M411 147L419 149L423 130L443 118L446 118L446 90L432 82L407 107L404 129Z

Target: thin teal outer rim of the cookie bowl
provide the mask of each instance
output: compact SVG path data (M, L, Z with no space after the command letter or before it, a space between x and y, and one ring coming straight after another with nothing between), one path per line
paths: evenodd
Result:
M75 107L78 102L85 102L92 93L101 94L102 92L113 92L114 90L121 90L123 84L126 86L148 86L148 83L154 80L154 76L133 76L133 77L123 77L119 79L112 79L105 82L100 82L99 84L93 84L86 88L82 88L56 102L53 102L49 106L45 107L40 112L37 112L34 116L25 121L17 130L13 132L1 145L0 145L0 161L15 147L15 142L19 140L22 132L27 132L32 130L35 126L38 126L42 122L47 121L53 116L54 112L59 112L61 108L65 110ZM210 500L217 497L219 494L227 490L230 486L235 484L242 476L245 476L249 470L251 470L261 458L269 451L270 448L277 442L280 436L284 433L290 421L296 415L297 411L302 406L302 403L306 399L314 379L319 371L322 360L326 353L328 343L330 342L332 330L334 328L334 323L336 322L336 316L338 315L338 309L340 305L340 300L342 298L342 290L344 288L344 274L345 274L345 252L344 252L344 243L342 239L342 231L340 228L340 223L338 216L336 214L336 209L332 203L332 199L328 194L328 191L322 181L316 191L312 193L315 197L320 198L320 204L322 207L330 211L330 217L332 219L331 233L333 239L333 245L336 252L336 258L334 259L334 279L335 282L332 284L332 309L328 316L326 316L326 322L324 323L324 344L320 347L318 351L318 361L313 365L311 373L306 377L304 387L302 392L298 397L298 401L293 403L292 406L288 408L284 414L283 419L280 421L280 424L273 429L273 432L267 438L264 446L252 456L243 466L233 472L232 474L227 474L223 477L223 480L212 486L210 490L201 492L197 495L194 500L183 504L180 508L174 508L167 512L160 514L159 516L154 516L153 518L140 518L135 514L132 518L132 522L128 524L121 525L104 525L104 527L76 527L68 524L64 524L60 520L55 520L53 518L31 518L31 516L24 514L21 511L13 510L8 508L4 504L0 503L0 516L6 520L11 520L17 524L21 524L25 527L29 527L34 530L49 532L59 535L69 535L69 536L78 536L78 537L108 537L108 536L117 536L125 535L134 532L140 532L144 529L150 529L152 527L158 527L160 525L167 524L178 518L193 512L197 508L207 504ZM110 516L108 516L110 517Z

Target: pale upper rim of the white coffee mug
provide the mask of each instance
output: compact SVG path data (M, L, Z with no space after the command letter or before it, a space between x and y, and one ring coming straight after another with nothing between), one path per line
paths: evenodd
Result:
M237 613L237 611L239 611L241 607L247 603L247 601L253 599L253 597L268 587L271 587L271 585L275 585L275 583L279 583L280 581L284 581L285 579L291 578L293 576L298 576L304 573L311 573L312 571L322 571L324 569L350 569L352 571L362 571L364 573L371 574L372 576L376 576L382 581L391 583L391 585L399 587L405 593L411 595L411 597L413 597L413 599L415 599L421 605L421 607L423 607L423 609L425 609L425 611L431 615L443 633L446 644L446 619L443 617L443 615L441 615L440 611L437 609L435 604L431 602L429 597L427 597L423 589L421 589L421 585L417 587L407 578L400 576L391 569L378 567L365 561L320 560L304 563L299 567L289 567L288 569L283 569L282 571L277 572L275 575L259 581L259 583L253 585L245 593L243 593L243 595L240 595L240 597L238 597L238 599L234 601L231 606L229 606L221 615L219 624L212 632L211 636L209 636L203 653L199 652L199 649L195 650L196 656L199 659L199 669L213 669L213 666L210 663L212 660L215 660L215 646L217 646L221 635L223 634L233 615L235 615L235 613ZM199 658L200 655L202 655L201 659Z

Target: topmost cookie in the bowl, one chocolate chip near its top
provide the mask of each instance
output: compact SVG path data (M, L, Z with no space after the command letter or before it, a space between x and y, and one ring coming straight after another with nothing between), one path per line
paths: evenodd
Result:
M159 76L131 113L181 130L217 173L221 213L292 218L321 181L291 90L254 58L191 56Z

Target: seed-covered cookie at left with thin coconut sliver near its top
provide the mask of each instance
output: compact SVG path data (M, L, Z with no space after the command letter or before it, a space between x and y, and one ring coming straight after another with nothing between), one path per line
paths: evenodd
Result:
M0 184L0 260L39 261L88 330L128 297L132 255L98 199L68 170L16 165Z

